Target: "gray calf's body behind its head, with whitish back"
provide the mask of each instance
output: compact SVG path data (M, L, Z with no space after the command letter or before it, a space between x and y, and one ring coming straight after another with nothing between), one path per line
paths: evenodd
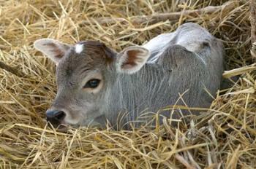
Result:
M136 74L118 74L108 95L108 119L116 124L138 120L148 111L170 105L208 107L222 82L224 47L219 39L194 23L181 25L175 32L161 34L143 47L151 52ZM126 112L113 114L113 112ZM197 111L182 111L182 115ZM162 111L170 117L170 111ZM181 114L173 114L178 119ZM140 121L143 118L140 118ZM148 120L148 119L146 119Z

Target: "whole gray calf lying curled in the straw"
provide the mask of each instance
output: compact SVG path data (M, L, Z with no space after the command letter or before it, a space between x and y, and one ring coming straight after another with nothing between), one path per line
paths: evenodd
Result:
M195 23L119 53L95 41L72 46L39 39L34 47L57 65L58 91L46 112L55 127L105 125L106 119L124 125L174 104L207 107L222 81L222 42Z

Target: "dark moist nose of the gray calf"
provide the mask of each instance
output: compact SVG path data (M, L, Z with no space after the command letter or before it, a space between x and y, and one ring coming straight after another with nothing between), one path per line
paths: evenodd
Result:
M58 127L59 125L61 125L61 122L65 117L66 117L66 114L64 111L59 111L59 110L46 111L46 119L54 127Z

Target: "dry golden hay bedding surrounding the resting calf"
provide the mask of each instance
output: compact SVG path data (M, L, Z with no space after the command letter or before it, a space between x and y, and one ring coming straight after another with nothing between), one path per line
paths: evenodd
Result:
M194 2L194 3L193 3ZM26 74L0 70L1 168L256 168L255 64L250 55L248 1L233 9L178 20L133 24L131 18L219 6L225 1L0 1L0 60ZM97 18L126 23L99 24ZM184 22L199 23L225 43L226 65L239 74L219 91L210 109L188 125L132 131L81 127L58 133L45 127L45 110L56 94L50 60L34 50L36 39L105 42L120 51L143 44ZM171 109L175 109L170 108ZM177 108L176 108L177 109Z

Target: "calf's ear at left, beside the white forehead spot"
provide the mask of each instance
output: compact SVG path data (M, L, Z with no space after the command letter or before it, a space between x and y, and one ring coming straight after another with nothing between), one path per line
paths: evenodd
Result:
M34 48L47 55L57 65L70 46L54 39L38 39L34 42Z

